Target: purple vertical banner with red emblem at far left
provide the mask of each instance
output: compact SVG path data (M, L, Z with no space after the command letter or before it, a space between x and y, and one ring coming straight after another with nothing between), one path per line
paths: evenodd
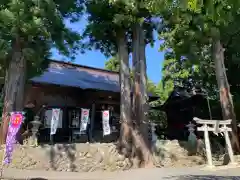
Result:
M6 149L4 154L4 164L10 164L13 146L16 143L16 135L24 121L24 112L11 112L6 138Z

